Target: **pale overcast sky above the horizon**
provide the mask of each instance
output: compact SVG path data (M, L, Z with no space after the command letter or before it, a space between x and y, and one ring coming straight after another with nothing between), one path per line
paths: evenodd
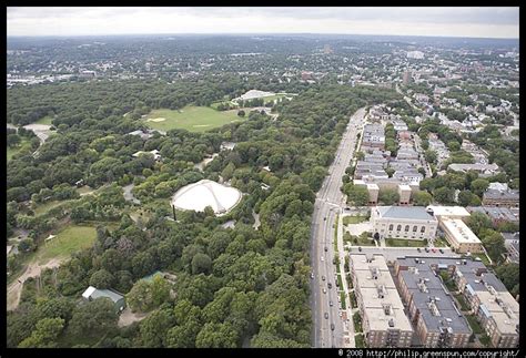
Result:
M8 35L345 33L518 39L518 8L8 8Z

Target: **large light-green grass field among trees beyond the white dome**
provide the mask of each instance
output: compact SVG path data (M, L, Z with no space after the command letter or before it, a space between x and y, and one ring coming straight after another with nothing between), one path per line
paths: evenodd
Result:
M164 121L146 122L153 130L170 131L183 129L190 132L205 132L232 122L244 121L236 110L219 112L208 106L189 105L182 110L154 110L146 119L165 119Z

